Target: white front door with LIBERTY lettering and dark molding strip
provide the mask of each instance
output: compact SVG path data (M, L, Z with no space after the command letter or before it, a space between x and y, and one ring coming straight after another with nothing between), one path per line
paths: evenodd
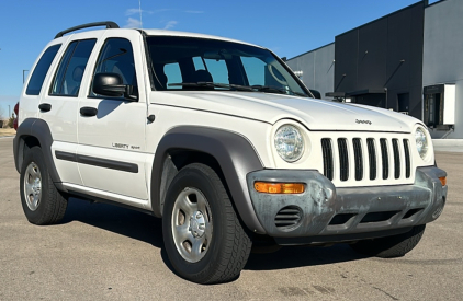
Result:
M87 96L79 102L78 166L87 193L145 208L147 104L140 89L142 36L137 31L106 34L92 62L92 74L87 78ZM133 85L137 100L95 94L93 77L101 72L120 74L124 84Z

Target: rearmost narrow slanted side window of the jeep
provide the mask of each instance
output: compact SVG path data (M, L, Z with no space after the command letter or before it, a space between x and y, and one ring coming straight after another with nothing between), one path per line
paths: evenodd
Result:
M27 89L25 90L25 94L41 94L42 84L44 83L46 73L48 72L49 66L52 65L52 61L60 47L61 44L57 44L48 47L48 49L45 50L38 60L37 66L35 66L34 72L32 73L31 80L29 81Z

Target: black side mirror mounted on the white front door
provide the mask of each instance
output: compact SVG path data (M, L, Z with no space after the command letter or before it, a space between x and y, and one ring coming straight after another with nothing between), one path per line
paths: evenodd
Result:
M124 84L122 77L117 73L97 73L93 78L93 92L104 96L121 97L124 96L131 101L136 101L133 95L133 86Z

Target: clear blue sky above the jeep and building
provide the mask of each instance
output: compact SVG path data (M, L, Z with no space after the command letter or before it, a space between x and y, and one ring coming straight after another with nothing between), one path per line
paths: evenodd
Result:
M145 28L168 28L236 38L294 57L335 36L418 0L142 0ZM430 1L436 2L434 1ZM139 27L138 0L2 0L0 4L0 114L18 101L23 70L65 28L95 21Z

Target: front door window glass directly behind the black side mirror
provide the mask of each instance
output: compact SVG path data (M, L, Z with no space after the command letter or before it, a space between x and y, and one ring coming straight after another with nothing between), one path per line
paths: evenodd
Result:
M106 39L98 58L93 78L98 73L117 73L121 76L123 83L133 85L134 93L138 94L134 51L131 42L125 38ZM93 88L90 95L98 95L93 92Z

